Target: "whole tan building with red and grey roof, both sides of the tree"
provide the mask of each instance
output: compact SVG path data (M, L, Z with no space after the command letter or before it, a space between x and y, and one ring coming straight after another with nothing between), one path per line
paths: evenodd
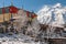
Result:
M0 8L0 22L4 22L4 21L10 21L10 19L12 19L12 16L15 16L18 11L21 10L14 6L10 6L10 7L4 7L4 8ZM35 13L30 12L24 10L24 12L26 13L26 15L30 18L35 18L37 16Z

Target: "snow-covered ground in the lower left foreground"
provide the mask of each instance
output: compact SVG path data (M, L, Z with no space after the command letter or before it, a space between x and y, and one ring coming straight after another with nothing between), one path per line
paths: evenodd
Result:
M34 38L28 35L23 35L21 33L21 34L13 34L13 35L0 34L0 44L42 44L42 43L34 42Z

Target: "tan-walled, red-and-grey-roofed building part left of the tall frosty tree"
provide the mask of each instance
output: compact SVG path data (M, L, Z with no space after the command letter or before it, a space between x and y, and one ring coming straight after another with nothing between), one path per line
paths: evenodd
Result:
M0 22L9 21L12 14L13 16L16 14L18 10L19 9L13 6L0 8Z

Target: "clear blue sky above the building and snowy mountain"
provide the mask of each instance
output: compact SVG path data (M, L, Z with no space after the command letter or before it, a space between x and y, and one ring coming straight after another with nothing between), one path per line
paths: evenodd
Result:
M24 10L37 12L45 4L56 4L62 3L66 6L66 0L13 0L13 6L18 8L24 8ZM4 0L4 7L11 4L11 0ZM0 0L0 7L3 7L3 0Z

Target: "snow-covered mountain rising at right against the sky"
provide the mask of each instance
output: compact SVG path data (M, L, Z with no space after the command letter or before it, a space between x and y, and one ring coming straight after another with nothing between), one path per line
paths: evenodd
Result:
M37 20L40 23L61 26L66 22L66 7L63 7L61 3L56 3L52 7L44 6L37 12Z

